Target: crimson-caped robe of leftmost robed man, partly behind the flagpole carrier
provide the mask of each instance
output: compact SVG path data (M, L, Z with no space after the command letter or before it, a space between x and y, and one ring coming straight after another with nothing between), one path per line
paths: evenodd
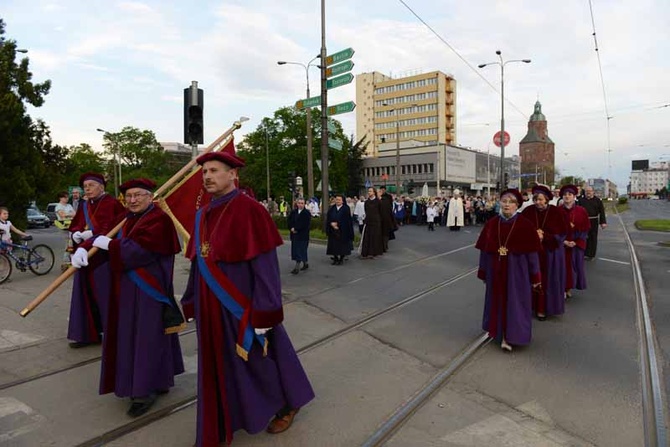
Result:
M88 212L93 228L88 227L84 208ZM118 200L108 194L103 194L97 199L87 200L86 207L80 203L70 223L69 231L74 233L91 230L94 236L106 235L121 222L125 213L125 208ZM90 238L78 246L75 245L75 250L79 247L89 250L93 239ZM107 253L98 252L89 260L88 267L78 269L74 275L67 333L67 338L70 340L83 343L100 341L111 290L111 272L107 260Z

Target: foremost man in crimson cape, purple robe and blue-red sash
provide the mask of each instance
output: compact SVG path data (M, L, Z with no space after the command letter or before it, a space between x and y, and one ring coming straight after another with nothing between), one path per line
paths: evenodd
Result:
M196 446L215 447L239 429L285 431L314 391L281 324L282 239L262 205L235 186L244 161L223 152L197 161L213 198L196 213L182 305L198 330Z

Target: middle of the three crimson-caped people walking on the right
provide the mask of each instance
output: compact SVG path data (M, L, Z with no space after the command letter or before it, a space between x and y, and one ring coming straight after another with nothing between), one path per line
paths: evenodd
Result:
M521 213L535 225L542 241L540 269L542 288L533 294L533 309L537 319L561 315L565 312L565 248L563 241L567 228L563 215L553 205L549 205L552 193L545 185L533 187L533 202Z

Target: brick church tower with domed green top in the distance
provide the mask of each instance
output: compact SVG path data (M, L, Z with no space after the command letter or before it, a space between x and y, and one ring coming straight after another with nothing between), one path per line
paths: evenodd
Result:
M519 142L521 159L521 187L527 189L533 183L554 183L554 142L547 133L547 118L542 113L542 104L535 103L535 111L528 121L528 133Z

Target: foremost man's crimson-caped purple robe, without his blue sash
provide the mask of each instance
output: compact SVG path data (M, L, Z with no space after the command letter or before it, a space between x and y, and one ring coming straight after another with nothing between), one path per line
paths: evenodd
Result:
M201 241L208 258L250 300L251 326L267 332L267 355L256 341L247 360L236 353L238 319L219 301L202 277L195 237L187 250L191 274L182 298L184 314L198 330L198 447L232 442L233 433L264 430L279 410L300 408L314 398L283 325L281 281L276 247L282 244L268 212L238 190L212 200L202 211ZM192 233L193 234L193 233Z

